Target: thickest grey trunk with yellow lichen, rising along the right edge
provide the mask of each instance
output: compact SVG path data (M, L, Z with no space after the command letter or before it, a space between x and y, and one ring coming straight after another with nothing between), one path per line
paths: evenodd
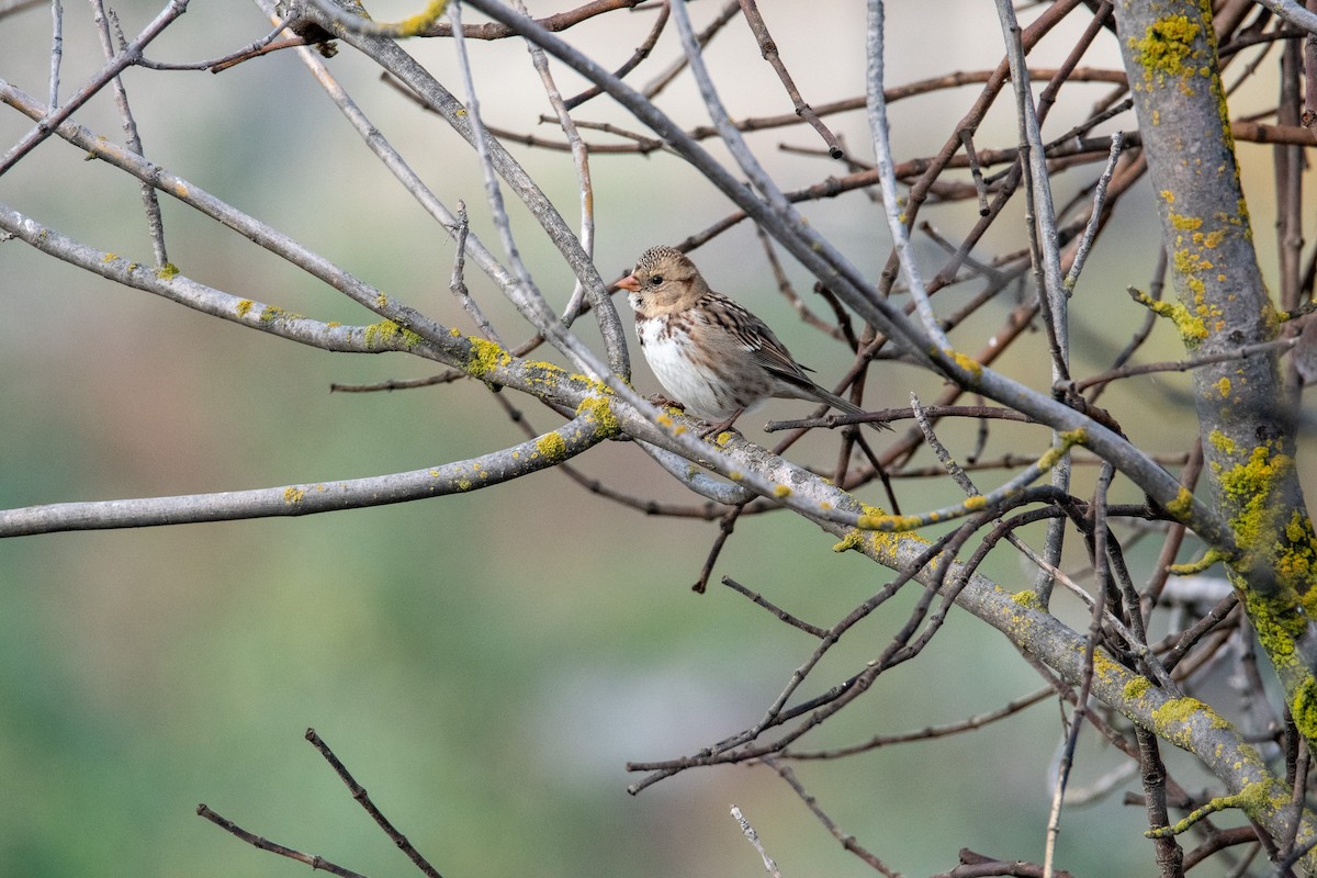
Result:
M1162 237L1179 303L1159 307L1196 355L1276 338L1280 320L1254 249L1230 136L1206 0L1117 7ZM1214 544L1285 687L1317 744L1317 537L1295 463L1293 400L1275 353L1193 371L1213 507L1234 549Z

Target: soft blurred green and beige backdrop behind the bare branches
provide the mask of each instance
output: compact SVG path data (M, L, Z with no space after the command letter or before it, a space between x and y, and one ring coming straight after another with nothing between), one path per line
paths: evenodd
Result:
M557 5L533 3L545 14ZM889 78L911 82L1000 58L990 4L935 4L939 45L930 53L925 4L893 4ZM903 7L903 8L902 8ZM863 92L863 4L764 3L784 58L807 100ZM117 7L129 34L157 12ZM371 7L377 17L408 11ZM922 11L921 11L922 9ZM691 4L697 21L715 12ZM570 33L606 63L620 63L648 14L606 16ZM1039 65L1068 50L1083 22L1039 49ZM267 29L254 8L194 0L148 53L162 61L224 54ZM810 32L830 34L826 50ZM47 91L50 16L45 8L0 20L0 76ZM739 116L789 112L753 41L732 28L716 43L715 71ZM461 93L449 42L410 43ZM471 45L487 121L553 137L525 51L512 41ZM677 51L669 32L657 70ZM1048 55L1051 53L1051 55ZM948 61L952 58L952 61ZM1105 43L1088 63L1113 66ZM86 9L66 13L62 95L100 66ZM465 199L473 228L497 241L475 165L444 124L421 116L344 47L331 62L383 133L449 204ZM748 74L745 71L749 71ZM558 70L565 93L581 87ZM637 74L648 78L645 68ZM129 96L148 155L275 225L390 296L471 326L448 292L452 242L392 183L291 53L221 75L132 70ZM893 107L901 155L935 151L968 107L950 91ZM1058 109L1055 130L1081 118L1094 90ZM687 79L661 101L703 124ZM1004 97L980 149L1014 141ZM627 124L605 101L578 116ZM119 140L108 92L78 118ZM830 120L867 155L863 113ZM1133 126L1133 120L1123 121ZM0 113L12 143L29 122ZM635 128L635 124L630 124ZM591 140L602 140L591 136ZM817 146L803 129L755 138L784 186L839 168L777 151ZM1249 158L1249 150L1242 147ZM574 178L561 153L516 147L576 224ZM678 241L728 212L716 194L665 155L593 159L597 262L614 278L651 244ZM1266 182L1266 168L1259 174ZM1084 178L1087 179L1087 176ZM1059 184L1064 187L1064 183ZM49 141L0 178L0 200L80 241L142 262L150 247L130 180ZM242 238L165 200L170 258L228 292L323 320L373 316L283 266ZM1083 369L1100 369L1143 319L1123 294L1146 286L1155 230L1147 194L1130 195L1097 249L1076 297ZM1266 203L1254 216L1268 216ZM886 257L881 216L863 194L803 208L867 270ZM523 247L551 301L570 276L514 211ZM928 216L955 240L972 217ZM1270 228L1259 224L1259 238ZM1005 246L990 241L985 250ZM698 254L715 287L738 295L778 328L820 374L846 357L797 323L772 291L748 228ZM1263 245L1264 254L1270 253ZM803 291L809 282L789 265ZM524 326L469 278L508 340ZM952 292L947 296L965 294ZM620 303L619 303L620 304ZM624 307L624 305L623 305ZM994 307L1001 320L1006 305ZM989 330L977 336L980 342ZM589 337L589 330L586 330ZM1002 367L1047 383L1040 340ZM976 346L969 346L971 350ZM1154 350L1175 357L1169 333ZM637 357L636 351L632 351ZM55 263L16 241L0 244L0 505L237 490L419 469L520 441L489 391L473 382L392 394L328 392L331 382L415 378L433 365L402 355L331 357L244 330ZM939 387L893 366L874 404L900 405ZM643 366L637 384L657 387ZM1115 413L1135 441L1183 450L1192 433L1179 408L1181 376L1154 379ZM514 400L545 429L554 416ZM774 405L759 424L801 415ZM972 433L947 428L954 453ZM989 453L1042 448L1039 432L1000 430ZM823 438L794 455L832 466ZM686 500L636 449L601 448L579 461L590 475L640 496ZM1081 480L1088 478L1080 477ZM990 482L985 477L984 482ZM1137 495L1122 490L1134 499ZM906 511L955 498L939 482L901 483ZM882 502L873 495L867 499ZM785 874L869 874L842 850L766 769L682 774L639 796L628 760L672 758L763 715L813 642L743 598L712 586L689 591L716 524L645 517L612 505L558 473L460 498L307 519L68 533L0 542L0 871L13 875L288 875L304 866L249 848L195 816L205 802L240 825L370 875L410 865L352 802L302 740L315 727L381 808L445 875L757 875L728 806L741 807ZM831 624L889 574L830 552L831 540L788 516L744 519L714 579L731 575L789 611ZM1139 554L1142 552L1142 554ZM1147 563L1151 546L1135 561ZM1008 587L1029 574L1011 559L993 573ZM819 669L822 691L877 656L903 621L909 599L869 620ZM993 710L1039 679L1008 644L964 613L918 662L885 675L811 746L917 729ZM1047 765L1062 724L1044 702L973 736L882 749L846 762L810 762L798 775L861 844L906 874L955 865L960 846L1042 860L1050 802ZM1088 737L1075 783L1119 763ZM1175 754L1171 754L1175 758ZM1195 779L1192 770L1185 775ZM1197 779L1202 783L1201 778ZM1126 783L1127 788L1135 785ZM1118 796L1117 796L1118 799ZM1067 812L1059 865L1077 874L1148 871L1142 807L1118 802Z

